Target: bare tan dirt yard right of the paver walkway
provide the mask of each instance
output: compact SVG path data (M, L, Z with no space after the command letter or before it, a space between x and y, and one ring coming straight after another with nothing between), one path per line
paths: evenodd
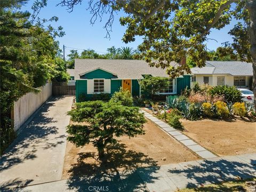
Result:
M256 152L256 123L247 119L180 120L188 137L219 156Z

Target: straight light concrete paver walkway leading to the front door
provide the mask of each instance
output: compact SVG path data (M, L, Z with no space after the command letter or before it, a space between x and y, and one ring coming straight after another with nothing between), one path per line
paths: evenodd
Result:
M141 110L141 113L144 114L144 116L154 123L156 123L159 127L161 127L165 132L167 132L171 137L178 140L180 143L188 147L190 150L194 151L198 156L208 159L208 158L214 158L217 157L213 153L211 153L209 150L203 148L195 141L188 138L186 135L182 134L180 131L175 130L173 127L168 125L167 123L161 121L160 119L156 118L155 116L149 114L145 110Z

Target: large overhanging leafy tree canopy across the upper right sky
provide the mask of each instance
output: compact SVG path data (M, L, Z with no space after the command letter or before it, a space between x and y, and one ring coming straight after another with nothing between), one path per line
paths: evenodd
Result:
M82 0L62 0L60 5L71 11ZM115 12L123 10L127 17L120 23L127 26L123 41L135 41L143 36L139 45L141 57L150 66L165 68L170 76L190 72L184 63L178 68L170 67L171 61L180 62L190 57L197 66L205 65L207 51L205 42L209 40L211 29L221 30L231 20L237 23L229 34L233 43L221 50L232 52L238 60L253 63L253 85L256 96L256 1L254 0L101 0L89 1L91 22L109 14L105 25L107 36L111 30ZM106 17L106 15L105 15Z

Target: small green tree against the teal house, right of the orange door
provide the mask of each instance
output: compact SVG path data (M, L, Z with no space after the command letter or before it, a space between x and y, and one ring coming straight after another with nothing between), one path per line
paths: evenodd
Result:
M152 77L152 76L145 76L144 79L141 80L140 86L141 91L146 94L146 97L152 96L159 92L160 90L164 89L169 85L168 78L166 77Z

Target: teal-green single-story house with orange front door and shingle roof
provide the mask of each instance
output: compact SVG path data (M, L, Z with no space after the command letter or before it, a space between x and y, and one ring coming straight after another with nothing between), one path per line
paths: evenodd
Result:
M179 65L176 62L172 66ZM75 59L75 68L68 73L76 81L76 101L79 95L118 91L120 87L131 91L133 96L141 96L140 81L145 75L169 77L165 69L149 67L143 60L107 60L107 59ZM190 87L190 74L170 79L169 87L163 87L159 94L180 94Z

